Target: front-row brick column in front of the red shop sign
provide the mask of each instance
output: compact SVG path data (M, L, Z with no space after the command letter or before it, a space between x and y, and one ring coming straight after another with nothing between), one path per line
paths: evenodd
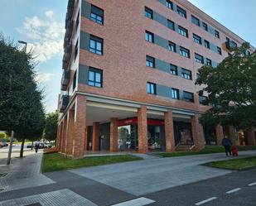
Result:
M147 107L138 108L138 152L146 153L147 148Z

